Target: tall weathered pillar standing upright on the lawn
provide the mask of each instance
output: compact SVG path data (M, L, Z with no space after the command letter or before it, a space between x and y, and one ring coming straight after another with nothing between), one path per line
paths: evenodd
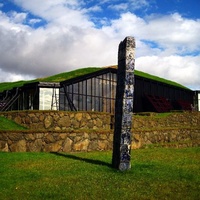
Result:
M131 125L134 97L135 39L126 37L119 44L115 128L112 166L121 171L131 168Z

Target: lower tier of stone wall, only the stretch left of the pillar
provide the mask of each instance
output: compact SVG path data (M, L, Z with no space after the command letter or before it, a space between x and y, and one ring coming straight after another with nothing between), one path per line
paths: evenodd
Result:
M0 132L0 150L6 152L71 152L112 149L109 131Z

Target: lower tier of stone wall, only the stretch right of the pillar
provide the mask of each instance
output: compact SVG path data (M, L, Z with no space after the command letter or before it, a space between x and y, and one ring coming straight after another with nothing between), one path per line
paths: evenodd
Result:
M163 128L135 130L132 135L132 149L148 146L193 147L200 146L199 128Z

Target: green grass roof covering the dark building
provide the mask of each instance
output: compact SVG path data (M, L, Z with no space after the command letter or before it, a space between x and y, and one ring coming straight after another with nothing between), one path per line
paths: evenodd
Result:
M116 66L112 66L112 68L113 67L116 68ZM38 79L34 79L34 80L29 80L29 81L3 82L3 83L0 83L0 92L3 92L5 90L11 90L14 87L21 87L21 86L23 86L24 84L27 84L27 83L61 82L61 81L69 80L71 78L76 78L78 76L93 73L93 72L96 72L96 71L99 71L99 70L102 70L102 69L103 69L102 67L87 67L87 68L76 69L76 70L73 70L73 71L70 71L70 72L63 72L63 73L56 74L56 75L53 75L53 76L38 78ZM135 70L135 75L189 90L189 88L187 88L187 87L185 87L185 86L183 86L179 83L176 83L176 82L164 79L164 78L160 78L158 76L154 76L154 75L151 75L151 74L148 74L148 73L144 73L144 72L141 72L141 71L138 71L138 70Z

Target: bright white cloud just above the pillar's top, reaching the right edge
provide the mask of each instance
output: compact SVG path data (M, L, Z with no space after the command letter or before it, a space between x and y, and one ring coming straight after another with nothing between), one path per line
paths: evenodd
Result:
M177 13L145 20L128 12L113 20L111 26L104 26L103 30L113 36L134 35L138 40L154 41L165 52L170 50L169 54L200 50L200 20L184 19Z

